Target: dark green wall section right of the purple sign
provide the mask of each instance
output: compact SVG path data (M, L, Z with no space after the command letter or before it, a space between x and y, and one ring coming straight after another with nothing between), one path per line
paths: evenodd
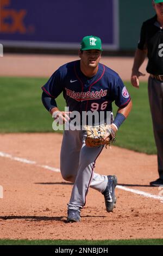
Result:
M155 15L152 0L119 0L120 50L133 50L140 37L143 21Z

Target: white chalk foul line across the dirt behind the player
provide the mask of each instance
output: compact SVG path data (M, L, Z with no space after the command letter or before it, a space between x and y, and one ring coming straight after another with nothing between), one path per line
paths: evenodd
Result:
M9 155L9 154L1 152L1 151L0 151L0 156L1 157L7 157L11 160L15 160L15 161L22 162L22 163L34 164L37 167L52 170L53 172L58 172L58 173L60 172L60 169L58 169L58 168L53 168L51 166L37 164L35 161L30 161L30 160L23 159L23 158L20 158L20 157L15 157L15 156ZM146 192L143 192L143 191L140 191L140 190L133 190L133 188L127 188L127 187L120 186L120 185L117 185L116 188L119 188L120 190L129 191L129 192L134 193L134 194L139 194L140 196L143 196L143 197L158 199L158 200L161 200L161 203L163 203L163 197L156 196L155 194L146 193Z

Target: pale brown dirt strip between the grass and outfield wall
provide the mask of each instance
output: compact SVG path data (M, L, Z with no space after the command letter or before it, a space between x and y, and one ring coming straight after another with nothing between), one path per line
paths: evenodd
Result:
M5 54L0 62L0 76L49 77L60 66L78 59L78 56L50 56L34 54ZM102 63L115 70L126 81L130 79L133 58L102 57ZM141 71L146 74L141 81L147 81L147 60Z

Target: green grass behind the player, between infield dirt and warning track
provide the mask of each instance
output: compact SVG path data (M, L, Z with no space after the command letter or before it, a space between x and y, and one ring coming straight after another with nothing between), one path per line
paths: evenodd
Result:
M41 86L46 78L0 77L0 132L54 132L53 119L41 102ZM151 113L149 110L147 84L135 89L125 83L133 99L133 109L117 133L115 145L135 151L155 154ZM58 107L64 110L62 95ZM114 113L117 107L113 104Z

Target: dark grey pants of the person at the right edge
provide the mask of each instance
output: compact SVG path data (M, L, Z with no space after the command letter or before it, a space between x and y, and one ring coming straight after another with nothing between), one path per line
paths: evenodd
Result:
M158 172L159 177L163 179L163 81L149 77L148 95L158 154Z

